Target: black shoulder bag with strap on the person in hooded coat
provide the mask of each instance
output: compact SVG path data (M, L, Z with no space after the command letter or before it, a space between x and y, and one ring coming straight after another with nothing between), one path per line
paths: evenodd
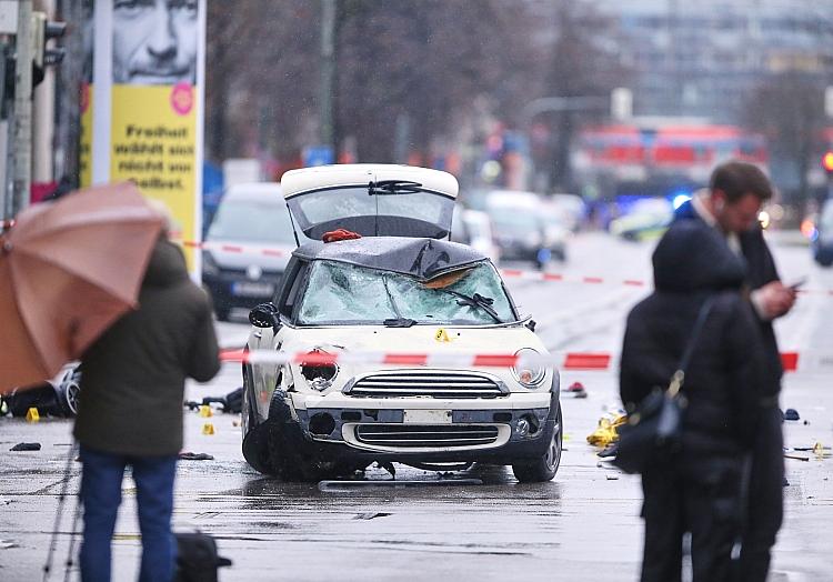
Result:
M616 458L612 462L625 473L642 473L650 466L665 463L680 449L683 409L686 404L680 390L713 303L714 298L707 298L700 308L691 338L680 359L680 365L671 377L669 388L651 392L628 415L628 422L619 428Z

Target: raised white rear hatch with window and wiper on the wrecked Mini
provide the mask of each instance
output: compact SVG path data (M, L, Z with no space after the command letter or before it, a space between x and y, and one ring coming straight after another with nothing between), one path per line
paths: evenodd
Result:
M307 237L347 229L362 237L443 239L451 231L456 179L426 168L337 164L281 178L293 227Z

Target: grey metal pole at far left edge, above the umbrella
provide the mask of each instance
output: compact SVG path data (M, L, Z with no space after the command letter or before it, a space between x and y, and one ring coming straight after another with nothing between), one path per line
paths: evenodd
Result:
M32 183L32 0L20 0L16 44L12 215L29 205Z

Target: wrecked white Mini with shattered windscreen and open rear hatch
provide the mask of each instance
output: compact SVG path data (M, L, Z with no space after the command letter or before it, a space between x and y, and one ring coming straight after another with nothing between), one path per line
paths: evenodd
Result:
M508 464L519 481L551 480L562 441L558 370L461 363L472 353L533 362L546 350L489 259L443 240L456 180L349 164L292 170L281 189L295 229L341 240L293 252L273 301L250 313L247 350L337 362L243 364L247 461L285 480L373 461L438 471ZM339 229L350 231L347 240L332 235ZM359 355L374 353L429 358L361 363ZM342 363L338 354L352 358Z

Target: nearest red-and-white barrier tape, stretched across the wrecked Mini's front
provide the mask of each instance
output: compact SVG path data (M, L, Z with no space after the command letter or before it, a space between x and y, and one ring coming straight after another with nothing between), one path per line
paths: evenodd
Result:
M618 357L609 352L555 352L552 354L510 353L405 353L405 352L301 352L289 353L270 350L224 350L221 359L227 362L247 363L307 363L307 364L380 364L380 365L428 365L460 368L511 368L513 365L552 365L560 370L613 371ZM805 352L782 352L781 362L785 372L833 371L833 354ZM801 365L799 365L801 362Z

